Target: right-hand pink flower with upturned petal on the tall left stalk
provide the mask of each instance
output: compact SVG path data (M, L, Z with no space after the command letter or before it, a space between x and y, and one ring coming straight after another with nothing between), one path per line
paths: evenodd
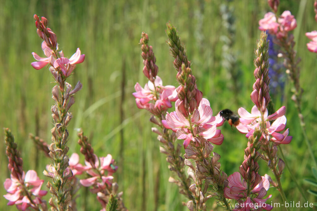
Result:
M77 48L76 53L74 53L69 59L65 57L56 59L53 63L53 67L55 69L60 67L63 74L67 77L73 72L76 67L75 64L79 64L84 60L85 54L81 54L80 49Z

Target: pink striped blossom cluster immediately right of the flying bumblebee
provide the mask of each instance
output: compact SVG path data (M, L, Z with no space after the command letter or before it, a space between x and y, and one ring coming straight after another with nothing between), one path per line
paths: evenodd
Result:
M277 144L289 144L292 140L292 136L288 136L288 129L282 134L278 133L285 129L286 117L284 116L286 111L285 106L282 106L275 113L268 116L268 110L266 109L263 117L256 105L253 106L251 113L244 108L239 108L238 113L240 115L240 124L236 126L238 131L246 133L246 137L249 138L253 134L255 128L264 125L265 130L272 136L270 139ZM275 120L272 125L271 120ZM264 121L264 122L262 122ZM263 138L266 138L266 134L262 134Z

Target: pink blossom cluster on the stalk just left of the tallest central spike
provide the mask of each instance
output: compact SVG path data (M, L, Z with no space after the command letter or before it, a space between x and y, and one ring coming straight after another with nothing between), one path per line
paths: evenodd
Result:
M146 109L153 114L159 115L162 111L172 107L171 102L178 99L174 86L163 86L163 82L159 76L156 76L154 84L148 81L144 88L139 83L134 86L136 104L140 109ZM155 104L150 101L153 100Z

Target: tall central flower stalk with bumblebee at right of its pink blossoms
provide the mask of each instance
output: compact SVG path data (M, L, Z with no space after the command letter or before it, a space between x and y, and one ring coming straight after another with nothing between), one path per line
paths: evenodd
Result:
M224 187L227 186L227 175L220 170L220 156L217 153L210 155L213 150L210 142L221 144L223 141L223 135L216 129L223 124L223 118L219 114L217 117L212 116L209 101L203 99L202 92L197 89L185 46L170 22L167 24L166 34L170 53L175 59L173 63L180 86L177 88L176 111L167 113L162 124L176 132L178 139L184 140L185 165L190 167L188 174L194 182L190 191L195 198L187 202L187 207L191 211L205 210L206 201L214 196L226 210L231 210L223 195ZM194 165L189 159L193 160Z

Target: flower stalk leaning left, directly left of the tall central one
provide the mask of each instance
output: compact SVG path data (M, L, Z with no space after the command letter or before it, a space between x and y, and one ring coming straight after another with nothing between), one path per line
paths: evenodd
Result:
M193 200L193 196L189 191L190 179L184 172L184 158L180 155L181 145L176 143L175 132L167 130L162 125L162 120L165 120L164 114L170 108L171 102L177 97L174 86L163 86L162 80L157 76L158 67L155 64L156 58L153 52L153 47L148 45L149 37L146 33L142 33L141 56L143 58L143 73L149 79L143 89L138 83L135 85L136 92L133 93L136 98L136 103L139 108L144 108L152 113L150 121L157 125L152 131L158 134L158 140L161 142L160 152L166 154L166 161L170 163L168 168L174 171L178 179L169 178L169 182L173 182L179 187L179 192L185 195L189 200ZM177 144L175 146L175 144Z

